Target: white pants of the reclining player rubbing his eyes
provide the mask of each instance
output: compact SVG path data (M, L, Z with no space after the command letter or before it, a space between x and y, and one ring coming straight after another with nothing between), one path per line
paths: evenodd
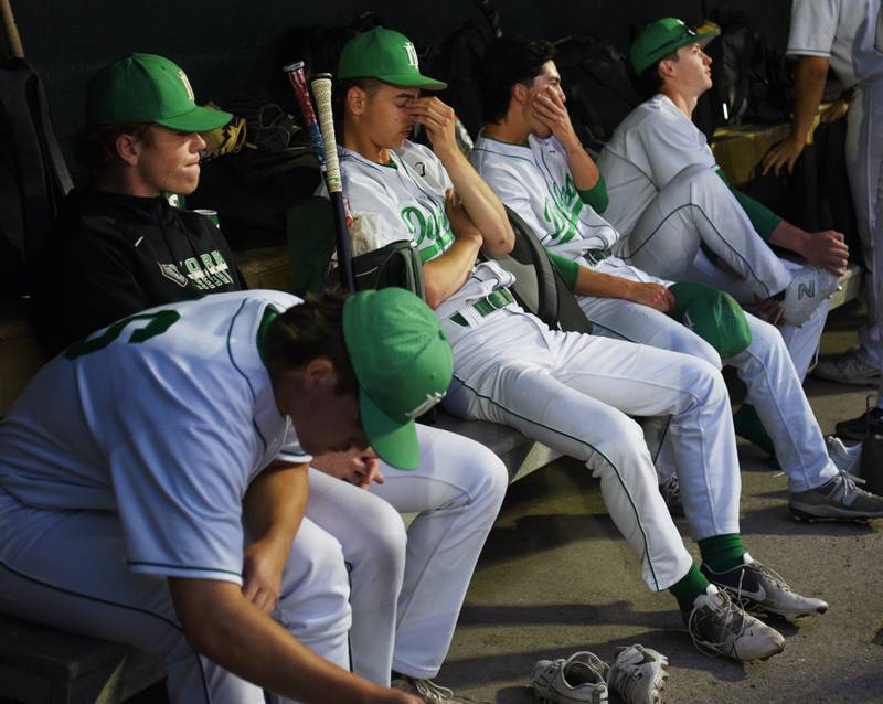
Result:
M550 330L518 307L474 328L444 323L454 350L445 399L455 414L502 423L586 462L655 590L692 564L657 489L640 426L671 415L669 435L691 533L738 532L740 474L720 373L696 358Z

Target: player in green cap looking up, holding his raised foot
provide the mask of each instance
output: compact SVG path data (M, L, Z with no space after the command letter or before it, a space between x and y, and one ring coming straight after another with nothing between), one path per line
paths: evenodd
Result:
M623 120L602 151L610 201L605 217L623 235L617 254L626 262L664 279L709 284L743 305L759 301L762 312L784 320L781 333L802 378L848 249L840 233L795 227L725 181L690 119L711 87L711 60L702 47L717 32L666 18L632 43L631 65L652 97ZM769 245L809 265L781 259Z

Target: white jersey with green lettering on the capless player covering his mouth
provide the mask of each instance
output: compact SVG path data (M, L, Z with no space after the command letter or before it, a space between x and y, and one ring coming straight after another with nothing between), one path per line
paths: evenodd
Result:
M567 154L554 137L531 135L522 146L481 134L469 159L500 200L556 253L576 259L589 249L609 249L619 237L583 203Z

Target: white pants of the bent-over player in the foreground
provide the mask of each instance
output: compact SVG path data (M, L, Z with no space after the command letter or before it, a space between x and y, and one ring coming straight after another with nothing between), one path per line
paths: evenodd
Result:
M115 514L43 511L0 489L0 611L162 657L173 704L264 704L260 687L191 649L164 578L128 569ZM305 519L274 617L313 652L349 668L348 597L340 545Z

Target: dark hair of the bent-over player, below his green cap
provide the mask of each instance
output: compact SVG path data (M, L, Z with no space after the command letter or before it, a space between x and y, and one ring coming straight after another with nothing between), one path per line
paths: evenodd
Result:
M359 391L343 339L345 300L347 295L340 290L308 295L304 303L289 308L270 323L264 337L264 353L274 376L323 356L334 365L338 394Z

